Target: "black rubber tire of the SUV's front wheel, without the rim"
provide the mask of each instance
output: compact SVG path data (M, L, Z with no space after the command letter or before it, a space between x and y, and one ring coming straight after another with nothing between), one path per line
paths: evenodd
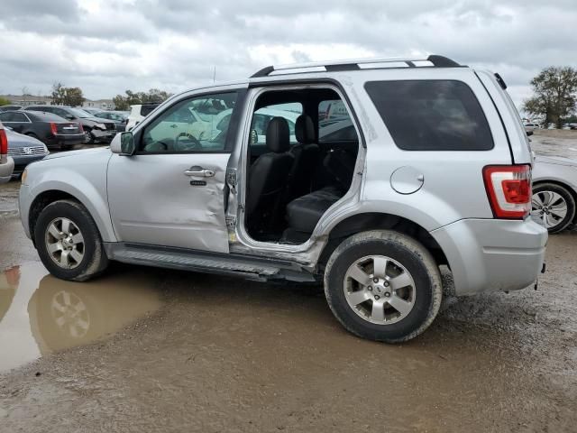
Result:
M48 251L47 229L53 220L61 217L68 218L78 226L84 237L83 258L73 269L65 269L55 263ZM104 272L108 266L108 257L104 251L98 227L87 209L77 201L58 200L44 207L34 226L34 240L46 269L61 280L87 281Z

